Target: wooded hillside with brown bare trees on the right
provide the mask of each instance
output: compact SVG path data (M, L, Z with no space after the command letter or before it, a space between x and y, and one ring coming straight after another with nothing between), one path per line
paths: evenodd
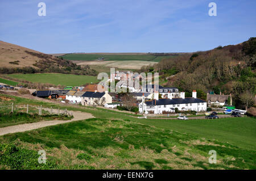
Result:
M239 108L253 106L256 94L256 38L237 44L217 47L192 55L167 58L141 71L158 71L160 82L185 92L197 90L206 99L206 92L232 94ZM188 95L187 96L191 96Z

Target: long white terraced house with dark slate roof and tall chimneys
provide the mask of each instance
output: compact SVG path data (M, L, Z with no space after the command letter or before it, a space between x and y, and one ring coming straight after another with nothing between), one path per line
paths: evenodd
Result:
M145 101L144 96L142 102L139 103L140 113L163 113L175 112L175 108L180 111L206 111L207 102L205 100L196 98L196 91L192 92L192 98L185 98L185 92L180 92L180 98L158 99L158 92L154 92L155 99Z

